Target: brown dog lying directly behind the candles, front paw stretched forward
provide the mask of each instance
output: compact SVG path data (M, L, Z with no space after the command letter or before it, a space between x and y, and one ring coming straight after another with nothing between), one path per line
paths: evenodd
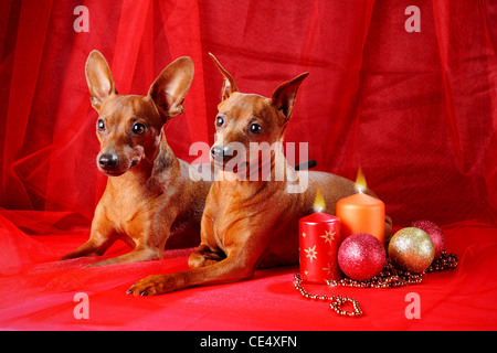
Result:
M232 76L213 60L223 74L224 85L212 161L226 165L234 154L229 147L231 142L241 142L248 150L251 142L283 141L297 89L307 73L279 85L272 98L265 98L239 93ZM221 171L223 180L218 175L214 181L203 211L201 244L189 258L192 269L149 276L128 293L159 295L191 286L237 281L251 278L257 267L297 264L298 220L313 212L317 188L325 199L326 212L331 214L338 200L357 192L355 183L341 176L288 168L281 148L272 150L272 180L252 180L255 178L245 176L260 173L265 164L255 161L253 165L251 157L246 156L248 163L242 165L242 171ZM283 170L283 180L277 179L278 170ZM290 186L298 186L303 173L308 173L308 188L300 193L288 192ZM391 220L385 216L387 235L391 227Z

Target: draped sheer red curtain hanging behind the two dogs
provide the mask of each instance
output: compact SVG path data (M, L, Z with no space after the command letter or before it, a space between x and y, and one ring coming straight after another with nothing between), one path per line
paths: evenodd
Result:
M92 218L105 184L84 77L93 49L123 94L145 94L171 60L193 58L186 113L166 127L193 160L190 145L213 139L213 52L243 92L271 95L309 71L286 140L308 142L320 170L353 179L361 164L396 224L495 222L496 11L486 2L424 2L421 32L405 31L403 1L84 4L89 32L80 33L67 1L3 6L3 207Z

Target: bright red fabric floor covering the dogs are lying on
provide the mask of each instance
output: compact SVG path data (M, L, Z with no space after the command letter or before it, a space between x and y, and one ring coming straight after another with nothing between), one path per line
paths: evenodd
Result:
M393 289L308 285L313 295L349 296L363 315L343 318L326 302L304 299L293 285L298 266L257 270L251 280L191 288L157 297L126 290L151 274L188 268L191 249L168 250L160 261L83 268L95 258L54 259L86 234L27 236L1 218L8 246L0 258L14 267L0 276L0 329L8 330L496 330L497 227L459 223L444 228L446 248L459 256L455 270L433 272L423 282ZM3 243L3 242L2 242ZM116 244L107 256L123 254ZM22 265L22 266L19 266ZM88 319L76 319L77 293L88 296ZM420 319L405 311L419 295ZM351 310L350 307L345 309Z

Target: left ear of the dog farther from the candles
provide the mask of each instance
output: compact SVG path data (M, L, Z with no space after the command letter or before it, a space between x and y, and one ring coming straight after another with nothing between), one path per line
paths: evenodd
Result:
M86 60L85 74L92 106L98 111L108 96L117 94L113 74L101 52L95 50L89 53Z

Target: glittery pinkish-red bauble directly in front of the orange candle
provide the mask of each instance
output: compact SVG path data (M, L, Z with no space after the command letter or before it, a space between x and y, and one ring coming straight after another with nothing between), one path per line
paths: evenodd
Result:
M352 234L338 249L338 265L351 279L371 279L381 272L385 263L383 244L371 234Z

